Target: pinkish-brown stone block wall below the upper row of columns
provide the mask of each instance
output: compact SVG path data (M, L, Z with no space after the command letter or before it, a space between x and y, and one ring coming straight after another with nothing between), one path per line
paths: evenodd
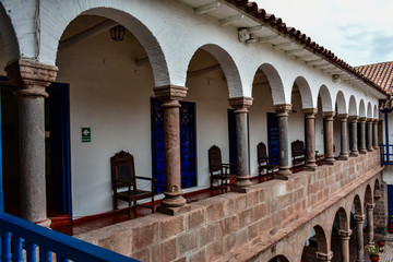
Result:
M141 261L226 260L233 251L257 242L281 241L279 229L307 223L305 214L315 212L341 188L359 182L366 172L380 170L379 166L379 152L372 152L313 172L294 174L289 180L259 183L248 193L198 201L190 204L189 213L152 214L78 237Z

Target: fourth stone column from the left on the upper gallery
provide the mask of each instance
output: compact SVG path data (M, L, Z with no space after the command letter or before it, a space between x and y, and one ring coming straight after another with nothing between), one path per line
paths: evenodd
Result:
M273 109L278 118L278 138L279 138L279 167L278 174L274 175L277 179L288 179L291 175L289 159L289 140L288 140L288 112L291 108L289 104L275 105Z

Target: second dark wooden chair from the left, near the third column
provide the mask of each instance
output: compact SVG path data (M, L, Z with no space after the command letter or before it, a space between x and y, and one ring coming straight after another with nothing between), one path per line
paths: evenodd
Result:
M228 191L228 180L236 177L235 174L230 174L230 166L235 164L223 164L221 150L218 146L213 145L209 150L209 171L211 178L211 188L225 189ZM218 186L213 187L214 180L218 180Z

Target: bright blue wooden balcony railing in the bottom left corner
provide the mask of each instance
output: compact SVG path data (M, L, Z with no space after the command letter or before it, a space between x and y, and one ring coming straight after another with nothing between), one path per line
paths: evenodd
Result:
M15 216L0 213L1 261L24 261L23 249L27 261L50 262L52 253L56 261L94 261L94 262L134 262L110 250L94 246L80 239L37 226ZM38 248L39 255L36 250Z

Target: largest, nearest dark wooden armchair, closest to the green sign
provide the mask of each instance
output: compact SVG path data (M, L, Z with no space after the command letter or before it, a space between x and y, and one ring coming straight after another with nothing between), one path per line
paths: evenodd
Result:
M111 183L114 190L114 210L118 209L118 201L122 200L129 203L129 216L131 216L131 207L143 206L155 212L154 207L154 186L156 179L135 176L133 156L124 151L116 153L110 157ZM136 186L136 179L150 180L152 182L151 190L142 190ZM126 189L126 190L122 190ZM152 205L136 204L136 201L152 199Z

